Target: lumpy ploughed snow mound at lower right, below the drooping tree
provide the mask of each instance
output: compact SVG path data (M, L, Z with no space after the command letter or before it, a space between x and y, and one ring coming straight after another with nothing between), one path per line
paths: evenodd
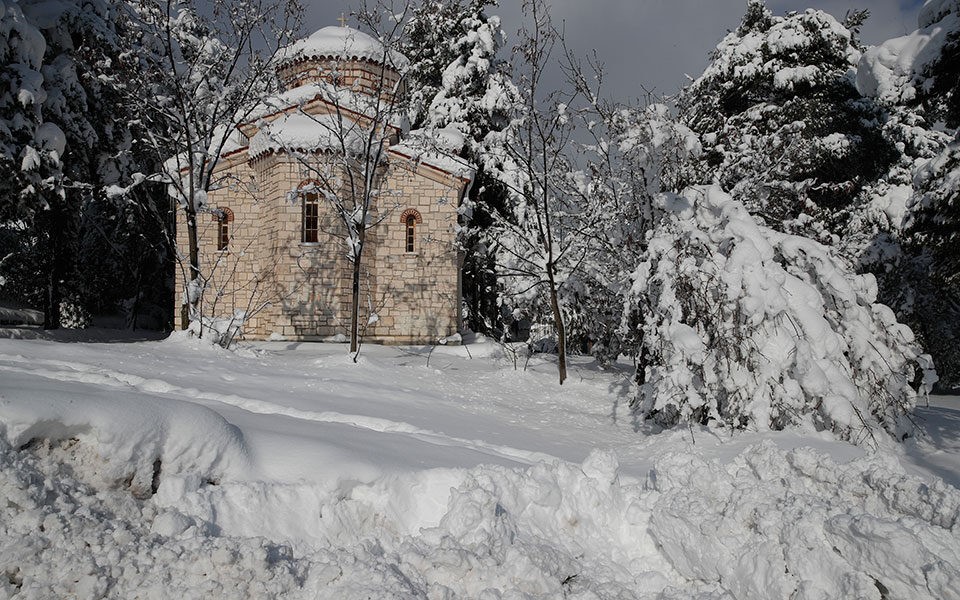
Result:
M765 442L726 466L665 457L652 481L670 562L736 598L960 598L960 492L892 457L836 464Z

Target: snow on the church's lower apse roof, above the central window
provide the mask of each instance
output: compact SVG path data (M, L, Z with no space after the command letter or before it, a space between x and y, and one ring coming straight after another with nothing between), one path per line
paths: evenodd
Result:
M295 150L316 152L321 150L341 151L342 146L351 154L363 152L363 130L353 121L336 115L306 115L292 113L266 123L250 139L250 158L267 152Z

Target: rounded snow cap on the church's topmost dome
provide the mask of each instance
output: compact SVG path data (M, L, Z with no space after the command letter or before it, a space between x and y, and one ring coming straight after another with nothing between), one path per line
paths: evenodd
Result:
M277 62L279 64L310 58L339 58L370 60L380 62L384 59L385 47L362 31L350 27L324 27L309 37L294 42L284 48ZM388 56L389 63L395 69L405 68L409 61L394 50Z

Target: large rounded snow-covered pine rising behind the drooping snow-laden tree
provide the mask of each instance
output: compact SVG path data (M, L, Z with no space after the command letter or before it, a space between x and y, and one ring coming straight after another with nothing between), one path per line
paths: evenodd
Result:
M708 181L775 229L835 243L868 182L897 153L854 85L865 13L774 16L750 0L739 27L680 98L701 135Z

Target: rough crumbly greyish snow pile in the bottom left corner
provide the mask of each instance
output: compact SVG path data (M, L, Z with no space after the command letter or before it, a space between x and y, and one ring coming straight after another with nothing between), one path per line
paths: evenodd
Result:
M15 451L0 436L0 596L276 598L302 585L289 548L218 537L102 487L99 468L109 464L76 442Z

